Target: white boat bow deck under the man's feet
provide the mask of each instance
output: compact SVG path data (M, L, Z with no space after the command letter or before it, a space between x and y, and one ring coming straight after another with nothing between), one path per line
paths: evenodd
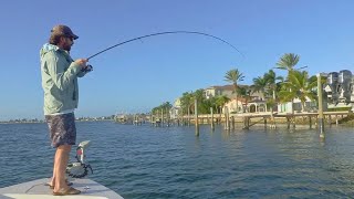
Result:
M10 187L0 188L0 199L123 199L118 193L90 179L72 179L75 189L81 190L80 195L53 196L52 189L45 184L49 178L38 179Z

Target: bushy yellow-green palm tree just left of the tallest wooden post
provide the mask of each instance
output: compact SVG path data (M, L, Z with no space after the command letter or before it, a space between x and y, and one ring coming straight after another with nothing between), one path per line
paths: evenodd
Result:
M301 101L302 111L304 111L304 105L306 98L315 100L316 95L313 88L316 87L316 81L309 78L309 73L306 71L291 71L288 76L289 81L284 82L283 90L279 92L279 97L281 102L293 102L294 98ZM294 109L292 109L293 114Z

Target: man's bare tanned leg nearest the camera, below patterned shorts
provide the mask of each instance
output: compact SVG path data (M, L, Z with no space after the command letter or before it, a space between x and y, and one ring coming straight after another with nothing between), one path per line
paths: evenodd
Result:
M65 170L69 161L71 145L61 145L56 148L54 159L54 192L67 190L69 186L65 182Z

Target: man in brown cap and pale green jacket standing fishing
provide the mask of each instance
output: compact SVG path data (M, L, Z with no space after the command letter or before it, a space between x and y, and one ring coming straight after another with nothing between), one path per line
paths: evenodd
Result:
M70 150L76 142L74 111L79 102L77 77L87 70L87 59L73 61L71 46L76 34L66 25L55 25L40 51L42 87L44 91L44 115L49 126L54 155L53 177L49 182L54 196L79 195L81 191L67 185L65 169Z

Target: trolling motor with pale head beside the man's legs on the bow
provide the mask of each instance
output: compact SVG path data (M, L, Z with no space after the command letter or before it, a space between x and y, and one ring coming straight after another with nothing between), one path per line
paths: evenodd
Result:
M66 166L66 174L72 178L83 178L88 175L88 169L93 174L92 167L90 164L85 163L85 148L88 147L90 140L80 143L76 148L76 163L70 163Z

